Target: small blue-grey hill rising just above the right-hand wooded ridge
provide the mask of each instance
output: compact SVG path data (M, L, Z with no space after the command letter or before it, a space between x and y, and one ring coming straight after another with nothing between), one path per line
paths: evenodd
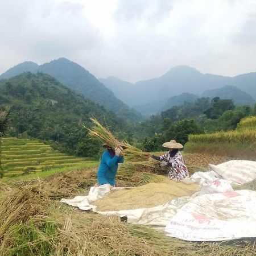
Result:
M255 100L250 96L250 94L243 92L243 90L232 85L226 85L218 89L205 90L205 92L201 94L201 97L220 97L221 99L230 99L238 106L251 105L255 103Z

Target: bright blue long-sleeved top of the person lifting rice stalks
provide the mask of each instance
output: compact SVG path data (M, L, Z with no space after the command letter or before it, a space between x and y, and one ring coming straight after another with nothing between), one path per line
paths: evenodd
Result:
M118 163L123 163L124 161L123 156L112 156L108 150L105 150L102 154L100 167L97 172L98 184L115 185Z

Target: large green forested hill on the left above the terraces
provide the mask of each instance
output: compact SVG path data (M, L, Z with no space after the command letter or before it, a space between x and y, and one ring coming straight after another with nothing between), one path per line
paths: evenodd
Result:
M0 110L6 105L11 106L11 137L28 135L55 141L72 154L80 143L89 144L82 137L86 131L82 123L89 125L92 115L98 121L106 122L112 131L129 129L124 119L44 73L27 72L3 80L0 84ZM94 150L100 148L99 145L95 147Z

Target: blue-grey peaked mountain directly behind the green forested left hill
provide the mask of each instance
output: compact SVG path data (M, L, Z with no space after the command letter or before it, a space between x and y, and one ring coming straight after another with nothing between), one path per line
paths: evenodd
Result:
M111 90L106 88L106 86L98 81L96 77L77 63L65 58L60 58L40 65L36 71L47 73L48 75L55 77L57 80L76 92L81 93L86 98L97 102L104 106L104 108L109 109L130 121L142 118L141 114L135 112L135 110L131 109L121 100L118 100Z

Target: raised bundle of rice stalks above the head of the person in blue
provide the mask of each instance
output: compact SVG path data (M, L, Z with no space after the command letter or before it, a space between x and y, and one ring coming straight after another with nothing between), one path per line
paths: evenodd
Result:
M111 133L111 131L100 124L94 117L90 118L95 126L89 129L84 124L82 125L86 130L88 130L90 137L100 139L102 143L108 144L110 147L119 147L119 142L117 138Z

